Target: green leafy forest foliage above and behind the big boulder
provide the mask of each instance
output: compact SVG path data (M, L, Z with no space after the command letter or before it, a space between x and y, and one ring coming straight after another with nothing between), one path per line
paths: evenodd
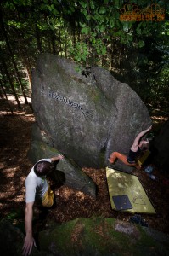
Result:
M153 99L157 91L165 91L169 3L155 2L166 10L163 22L121 21L120 9L125 3L123 0L3 0L3 22L25 88L28 88L27 74L31 74L37 56L51 52L77 63L110 69L144 100L148 95ZM151 3L151 0L132 1L140 9L149 8ZM0 29L1 51L14 87L20 91L2 26ZM0 67L3 84L8 89L10 83L5 81L8 78L3 64ZM156 81L163 83L161 89Z

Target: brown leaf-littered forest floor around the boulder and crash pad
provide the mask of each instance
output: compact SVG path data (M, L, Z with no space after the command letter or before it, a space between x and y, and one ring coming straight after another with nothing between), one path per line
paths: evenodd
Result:
M8 102L0 99L0 218L10 218L14 222L23 223L25 177L32 167L27 152L31 146L31 125L35 119L31 108L24 104L23 99L20 98L22 109L19 110L14 98L8 98L14 114L10 112ZM160 115L151 116L151 119L154 125L162 125L166 121L166 118ZM105 169L83 168L83 171L97 184L99 189L97 198L93 199L65 185L55 188L57 206L48 210L45 221L50 219L62 224L75 218L97 216L130 221L131 213L116 212L110 206ZM156 167L153 172L156 180L150 179L144 170L134 171L132 174L135 174L143 184L156 210L155 215L141 214L142 218L149 227L169 233L169 177ZM38 216L40 210L36 209L35 207L35 216ZM46 226L47 223L45 222ZM44 219L37 224L36 229L41 230L43 224Z

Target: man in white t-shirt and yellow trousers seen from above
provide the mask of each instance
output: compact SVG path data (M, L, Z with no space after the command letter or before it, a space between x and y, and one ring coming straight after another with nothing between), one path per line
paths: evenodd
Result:
M30 255L33 245L36 246L32 234L33 205L35 201L41 202L43 207L52 207L54 204L54 192L50 189L46 176L52 171L52 163L62 160L59 154L50 159L42 159L31 168L31 172L25 179L25 242L23 255Z

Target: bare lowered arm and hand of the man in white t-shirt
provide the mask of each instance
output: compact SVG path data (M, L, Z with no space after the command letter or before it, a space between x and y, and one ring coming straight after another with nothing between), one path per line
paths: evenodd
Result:
M23 246L23 255L30 255L33 245L36 246L35 240L32 236L32 218L33 218L33 204L34 202L26 203L25 206L25 242Z

